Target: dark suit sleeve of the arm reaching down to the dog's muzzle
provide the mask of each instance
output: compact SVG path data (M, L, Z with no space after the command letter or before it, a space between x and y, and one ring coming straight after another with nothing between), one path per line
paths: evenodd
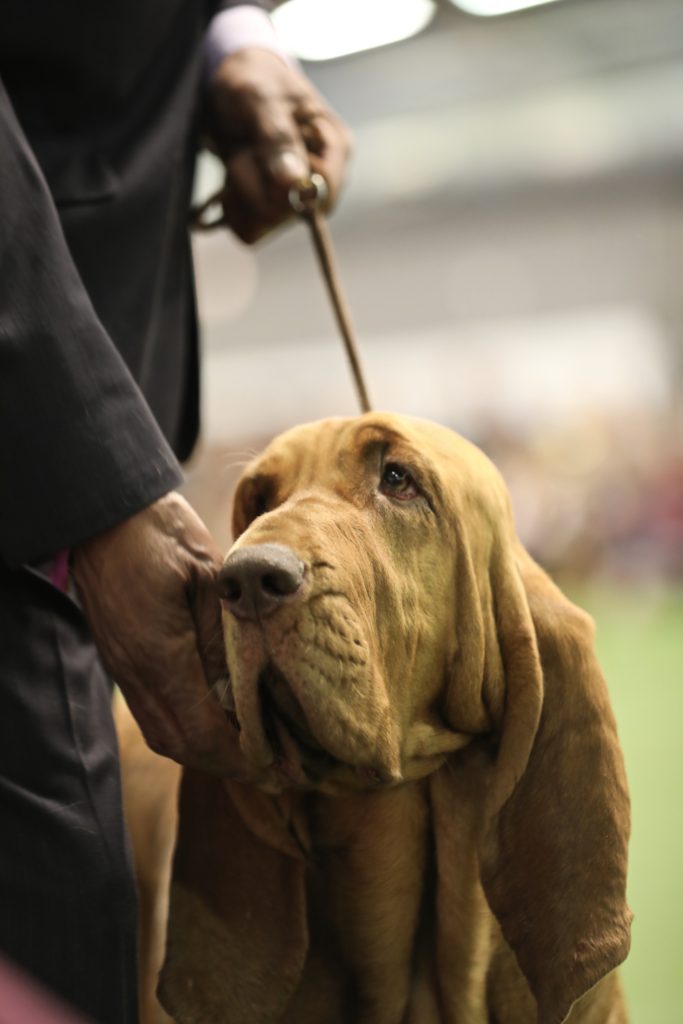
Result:
M1 82L0 204L0 558L15 566L128 518L180 470L97 319Z

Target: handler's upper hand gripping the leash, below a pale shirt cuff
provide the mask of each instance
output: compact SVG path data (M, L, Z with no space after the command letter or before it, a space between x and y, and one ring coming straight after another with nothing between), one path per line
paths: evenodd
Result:
M292 216L289 189L312 172L332 208L350 136L311 83L276 53L246 47L218 66L210 85L213 141L227 171L225 223L256 242Z

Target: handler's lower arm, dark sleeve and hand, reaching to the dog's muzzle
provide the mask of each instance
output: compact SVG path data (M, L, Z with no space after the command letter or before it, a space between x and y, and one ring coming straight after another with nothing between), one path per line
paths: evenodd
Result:
M225 664L220 556L172 493L179 467L97 321L1 83L0 205L0 558L71 548L95 641L147 741L239 777L207 686Z

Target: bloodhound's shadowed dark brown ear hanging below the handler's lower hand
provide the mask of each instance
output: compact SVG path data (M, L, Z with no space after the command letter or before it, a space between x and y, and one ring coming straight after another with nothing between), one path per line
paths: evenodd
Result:
M303 866L273 813L264 794L185 769L159 990L177 1024L280 1020L299 982Z

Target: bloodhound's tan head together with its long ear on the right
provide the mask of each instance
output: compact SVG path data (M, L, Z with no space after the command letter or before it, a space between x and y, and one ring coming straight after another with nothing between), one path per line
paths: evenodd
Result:
M336 792L480 745L484 891L540 1020L561 1021L628 950L628 798L590 620L521 548L499 473L433 424L329 420L247 469L233 524L247 759L275 792Z

